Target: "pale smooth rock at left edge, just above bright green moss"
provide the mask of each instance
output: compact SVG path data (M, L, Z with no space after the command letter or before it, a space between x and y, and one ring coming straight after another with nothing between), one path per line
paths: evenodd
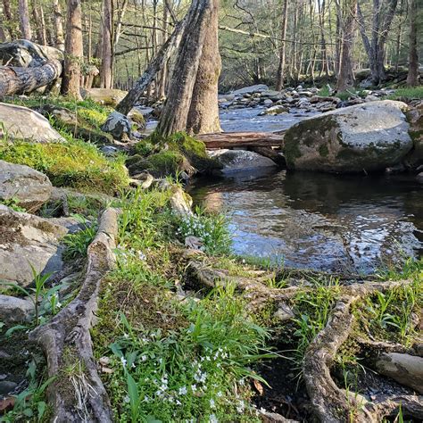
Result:
M62 142L64 138L55 131L48 120L27 107L0 103L0 138L33 143Z

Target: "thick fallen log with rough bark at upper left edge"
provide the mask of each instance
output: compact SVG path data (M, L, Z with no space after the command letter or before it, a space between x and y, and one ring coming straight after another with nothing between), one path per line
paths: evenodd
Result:
M0 97L30 93L50 85L62 74L62 62L52 60L36 68L0 66Z

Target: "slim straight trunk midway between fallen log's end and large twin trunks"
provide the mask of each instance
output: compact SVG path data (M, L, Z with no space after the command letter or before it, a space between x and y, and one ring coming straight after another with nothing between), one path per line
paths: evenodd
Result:
M112 0L103 0L103 48L100 87L112 88Z

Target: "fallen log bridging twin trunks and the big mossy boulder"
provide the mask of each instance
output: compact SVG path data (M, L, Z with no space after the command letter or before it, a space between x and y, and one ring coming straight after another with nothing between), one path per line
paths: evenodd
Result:
M221 132L196 136L208 149L281 147L284 137L273 132Z

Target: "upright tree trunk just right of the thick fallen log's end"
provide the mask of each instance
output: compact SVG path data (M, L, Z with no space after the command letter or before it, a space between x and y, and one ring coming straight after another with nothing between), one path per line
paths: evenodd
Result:
M81 0L68 0L62 94L80 99L82 46Z

